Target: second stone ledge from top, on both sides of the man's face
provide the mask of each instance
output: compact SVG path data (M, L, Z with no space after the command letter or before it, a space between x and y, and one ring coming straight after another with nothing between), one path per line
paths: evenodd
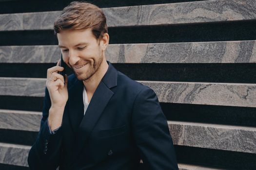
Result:
M0 63L57 63L57 45L1 46ZM112 63L256 63L256 41L110 44Z

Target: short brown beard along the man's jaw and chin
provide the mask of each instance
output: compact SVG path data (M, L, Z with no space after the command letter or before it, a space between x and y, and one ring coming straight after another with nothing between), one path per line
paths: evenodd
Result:
M101 57L99 57L98 60L94 60L94 63L92 63L91 61L88 63L90 66L87 72L78 74L76 71L74 71L73 67L71 67L71 69L75 73L78 80L85 81L90 79L98 71L98 68L100 67L102 61L103 61L103 55L101 54Z

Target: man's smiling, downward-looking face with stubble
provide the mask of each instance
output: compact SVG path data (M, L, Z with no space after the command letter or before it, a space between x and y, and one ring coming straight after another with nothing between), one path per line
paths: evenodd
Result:
M92 77L103 61L102 41L97 41L91 29L65 30L57 34L64 62L79 80Z

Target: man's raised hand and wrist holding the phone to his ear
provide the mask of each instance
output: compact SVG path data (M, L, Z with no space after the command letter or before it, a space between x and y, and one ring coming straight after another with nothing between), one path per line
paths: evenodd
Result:
M64 108L68 100L68 77L65 75L64 82L64 77L58 74L58 71L64 69L60 67L59 64L60 60L57 66L47 69L46 87L51 99L48 123L52 131L61 125Z

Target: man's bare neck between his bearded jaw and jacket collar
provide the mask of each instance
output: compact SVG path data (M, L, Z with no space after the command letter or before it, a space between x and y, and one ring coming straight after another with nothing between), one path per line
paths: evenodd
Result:
M103 78L107 70L108 70L108 63L105 59L103 59L97 72L88 80L83 81L83 84L86 87L87 93L93 94L95 92L96 88L98 87L98 84L100 83L101 79Z

